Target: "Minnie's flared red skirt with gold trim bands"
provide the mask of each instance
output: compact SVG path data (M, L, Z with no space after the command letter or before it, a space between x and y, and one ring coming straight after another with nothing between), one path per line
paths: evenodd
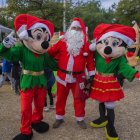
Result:
M114 75L97 73L91 87L90 97L100 102L112 102L124 98L124 93Z

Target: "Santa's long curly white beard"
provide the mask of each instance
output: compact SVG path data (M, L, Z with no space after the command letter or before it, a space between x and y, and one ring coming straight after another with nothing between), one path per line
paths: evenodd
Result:
M65 34L67 51L73 55L77 56L80 54L81 48L84 45L84 35L81 31L75 31L74 33L71 30L68 30Z

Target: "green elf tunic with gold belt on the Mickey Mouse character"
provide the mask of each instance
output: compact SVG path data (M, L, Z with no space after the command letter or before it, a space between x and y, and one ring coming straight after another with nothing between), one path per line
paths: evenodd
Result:
M0 44L0 55L7 60L21 62L24 74L21 75L20 88L23 91L28 88L34 88L36 85L38 87L46 87L45 67L49 67L52 70L57 69L56 61L49 57L48 54L37 55L23 44L17 44L11 48L6 48L3 44Z

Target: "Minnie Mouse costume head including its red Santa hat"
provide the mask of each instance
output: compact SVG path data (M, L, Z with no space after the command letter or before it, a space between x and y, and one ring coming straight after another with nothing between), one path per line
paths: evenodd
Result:
M132 27L119 24L100 24L93 33L97 52L105 59L118 58L125 54L126 47L130 47L136 38Z

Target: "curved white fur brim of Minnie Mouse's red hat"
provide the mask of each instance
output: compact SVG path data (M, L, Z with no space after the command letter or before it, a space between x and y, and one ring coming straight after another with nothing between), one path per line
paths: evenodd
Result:
M128 36L114 31L103 34L98 41L101 41L109 36L122 39L129 47L132 46L132 44L134 43L134 41Z

